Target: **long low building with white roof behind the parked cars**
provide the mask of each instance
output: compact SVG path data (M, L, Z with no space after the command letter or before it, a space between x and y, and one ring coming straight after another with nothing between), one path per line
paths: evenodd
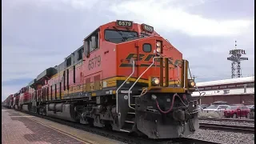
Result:
M229 104L254 105L254 76L231 78L210 82L197 82L198 90L206 94L199 100L200 104L210 105L216 101ZM199 97L195 91L192 96Z

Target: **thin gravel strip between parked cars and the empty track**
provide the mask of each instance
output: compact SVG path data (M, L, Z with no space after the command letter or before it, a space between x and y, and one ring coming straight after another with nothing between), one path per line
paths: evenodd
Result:
M230 125L230 126L250 126L254 127L254 123L249 122L221 122L221 121L210 121L210 120L199 120L199 123L210 123L218 125Z

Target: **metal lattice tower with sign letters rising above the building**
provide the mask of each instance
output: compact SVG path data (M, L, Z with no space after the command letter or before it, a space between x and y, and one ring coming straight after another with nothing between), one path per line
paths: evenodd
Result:
M237 41L234 41L234 50L230 50L231 56L227 58L231 61L231 78L242 77L241 61L248 60L248 58L241 58L242 54L246 54L246 50L239 50L237 46Z

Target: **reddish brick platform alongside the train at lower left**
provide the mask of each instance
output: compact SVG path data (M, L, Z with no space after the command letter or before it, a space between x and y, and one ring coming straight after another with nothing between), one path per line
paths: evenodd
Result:
M122 143L57 122L2 108L2 144Z

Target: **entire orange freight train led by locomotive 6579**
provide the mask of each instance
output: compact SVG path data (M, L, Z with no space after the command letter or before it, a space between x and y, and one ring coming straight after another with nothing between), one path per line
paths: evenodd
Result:
M178 138L199 127L194 86L189 63L154 27L118 20L99 26L4 106L148 138Z

